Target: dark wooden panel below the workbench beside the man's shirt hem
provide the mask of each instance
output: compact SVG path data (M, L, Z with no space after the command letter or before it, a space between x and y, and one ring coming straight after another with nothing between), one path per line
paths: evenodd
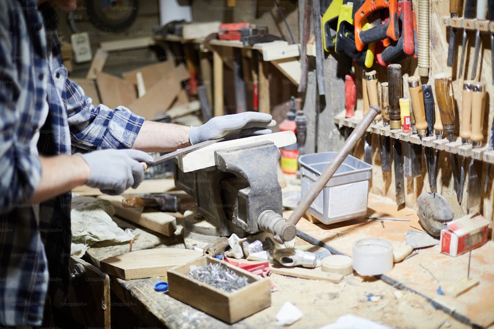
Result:
M85 328L110 328L110 277L75 256L70 257L70 268L83 271L79 284L72 281L67 299L54 304Z

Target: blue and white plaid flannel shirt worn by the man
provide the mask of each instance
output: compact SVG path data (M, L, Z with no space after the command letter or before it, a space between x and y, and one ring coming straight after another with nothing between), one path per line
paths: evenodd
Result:
M70 283L70 194L41 203L40 223L25 203L41 180L38 152L128 148L144 122L124 107L94 107L68 79L57 35L44 28L56 16L36 4L0 1L0 324L7 326L41 325L48 283L53 294Z

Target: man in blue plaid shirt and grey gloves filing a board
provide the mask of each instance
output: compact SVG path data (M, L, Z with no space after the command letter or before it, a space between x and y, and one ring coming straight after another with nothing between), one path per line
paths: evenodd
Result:
M49 2L0 1L0 325L38 326L46 293L70 283L70 190L121 194L143 180L146 152L270 133L269 114L215 117L199 127L93 106L68 79ZM39 7L38 7L39 6ZM89 150L72 154L72 147ZM49 285L48 285L49 283ZM49 286L49 287L48 287Z

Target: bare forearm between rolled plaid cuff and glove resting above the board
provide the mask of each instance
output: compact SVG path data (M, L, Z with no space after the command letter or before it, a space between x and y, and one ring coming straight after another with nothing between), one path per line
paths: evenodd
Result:
M189 146L189 127L173 123L144 121L132 145L146 152L169 152Z

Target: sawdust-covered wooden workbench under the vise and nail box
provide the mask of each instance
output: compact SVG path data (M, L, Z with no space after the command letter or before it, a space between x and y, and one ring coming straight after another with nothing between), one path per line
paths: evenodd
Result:
M286 212L285 218L289 213ZM381 223L379 220L352 219L326 225L302 218L297 229L321 241L321 246L324 243L350 256L353 242L362 237L381 237L395 245L403 245L407 230L420 229L414 211L408 208L397 210L392 200L372 194L369 196L368 216L410 221L387 220ZM119 218L114 220L120 227L136 229L135 232L139 233L132 251L184 248L179 231L174 236L166 237ZM180 219L177 221L180 223ZM309 244L297 237L296 245ZM93 246L84 259L99 267L101 260L128 251L128 244ZM272 274L270 280L275 291L272 292L271 307L233 326L168 296L167 292L154 291L150 279L122 280L111 277L109 311L112 327L115 328L134 325L151 328L276 328L276 314L286 301L291 301L304 315L290 328L321 328L348 313L395 328L439 328L446 322L453 328L469 328L464 324L470 323L487 327L494 322L493 241L472 252L470 276L480 280L477 287L456 298L437 294L439 284L466 276L467 262L468 254L447 256L440 254L439 246L435 246L395 263L393 270L382 275L381 280L378 277L362 277L355 271L345 276L339 284ZM368 302L364 298L367 292L383 297Z

